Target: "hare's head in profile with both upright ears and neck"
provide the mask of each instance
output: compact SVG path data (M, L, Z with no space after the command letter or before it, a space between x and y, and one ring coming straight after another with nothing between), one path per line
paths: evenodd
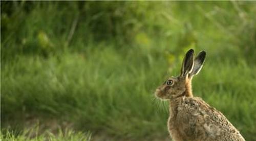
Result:
M191 91L191 80L197 75L203 66L206 53L201 51L194 59L194 50L190 49L181 66L178 77L170 77L160 85L155 95L161 99L172 100L181 96L193 96Z

